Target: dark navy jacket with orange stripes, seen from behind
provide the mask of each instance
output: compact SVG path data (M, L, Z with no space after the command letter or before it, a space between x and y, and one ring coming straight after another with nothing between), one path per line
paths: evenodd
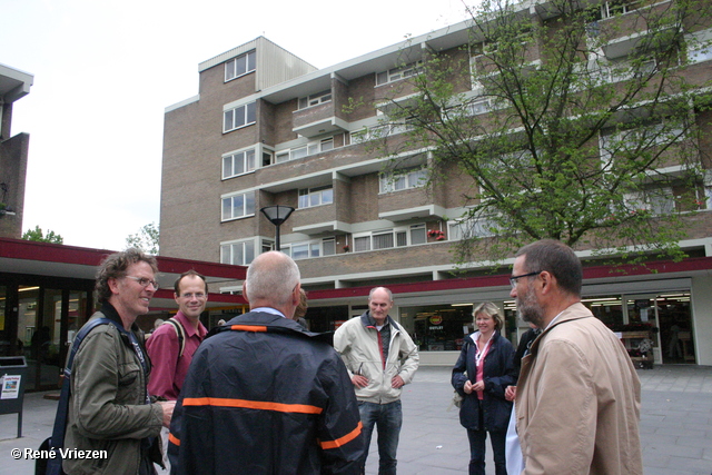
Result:
M358 473L358 406L329 338L267 313L217 329L176 405L171 473Z

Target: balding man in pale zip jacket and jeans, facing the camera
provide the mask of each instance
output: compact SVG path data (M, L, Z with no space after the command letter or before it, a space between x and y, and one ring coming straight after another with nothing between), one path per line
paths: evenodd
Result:
M418 349L408 333L388 316L393 294L376 287L368 294L368 310L344 323L334 334L358 399L364 424L364 473L374 425L378 431L378 473L396 473L396 453L403 424L400 392L418 368Z

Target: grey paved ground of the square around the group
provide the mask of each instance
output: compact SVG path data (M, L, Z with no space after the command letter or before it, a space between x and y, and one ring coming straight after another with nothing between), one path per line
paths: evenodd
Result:
M398 473L448 475L467 473L469 446L457 409L449 407L449 367L422 367L404 388L404 422ZM641 439L646 475L712 474L712 367L656 366L639 369L643 384ZM56 393L56 392L55 392ZM0 415L0 475L32 474L32 461L16 461L12 448L37 448L50 435L57 408L44 393L24 395L22 437L17 415ZM376 436L366 464L378 472ZM487 474L494 474L487 443Z

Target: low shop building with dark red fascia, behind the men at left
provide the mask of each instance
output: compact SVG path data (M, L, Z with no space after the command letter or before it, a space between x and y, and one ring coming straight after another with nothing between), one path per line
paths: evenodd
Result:
M0 238L0 356L24 356L24 390L57 389L69 346L93 313L95 275L110 251L22 239ZM177 310L172 286L195 269L209 284L245 278L246 268L215 263L157 257L160 289L149 315L137 324L144 330L158 317ZM210 294L208 310L244 311L241 296ZM146 323L146 326L142 324Z

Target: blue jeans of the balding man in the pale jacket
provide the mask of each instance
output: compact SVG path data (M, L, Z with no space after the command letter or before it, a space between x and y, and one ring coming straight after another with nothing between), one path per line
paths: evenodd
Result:
M403 425L403 412L400 400L388 404L358 402L358 413L364 425L364 455L360 461L362 469L366 467L370 436L374 433L374 425L378 429L378 474L395 475L396 452L398 451L398 437Z

